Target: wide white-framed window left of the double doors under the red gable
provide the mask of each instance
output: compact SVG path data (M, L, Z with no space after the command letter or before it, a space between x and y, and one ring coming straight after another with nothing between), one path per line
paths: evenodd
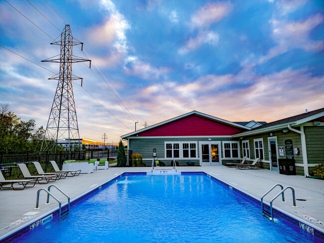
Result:
M197 143L165 142L165 158L197 158Z

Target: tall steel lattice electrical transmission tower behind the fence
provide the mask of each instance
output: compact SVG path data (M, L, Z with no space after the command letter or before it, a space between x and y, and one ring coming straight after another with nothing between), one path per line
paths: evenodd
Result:
M57 40L59 38L60 40ZM68 144L68 150L70 150L72 144L79 144L80 142L72 81L81 79L82 86L82 78L72 74L72 63L89 61L91 68L91 60L73 56L72 47L74 45L81 45L82 51L83 43L73 38L70 25L65 25L61 35L57 37L51 45L60 45L61 53L57 56L45 59L42 62L60 63L60 72L49 78L58 80L58 84L52 109L49 114L41 151L56 150L59 141L64 141L65 144Z

